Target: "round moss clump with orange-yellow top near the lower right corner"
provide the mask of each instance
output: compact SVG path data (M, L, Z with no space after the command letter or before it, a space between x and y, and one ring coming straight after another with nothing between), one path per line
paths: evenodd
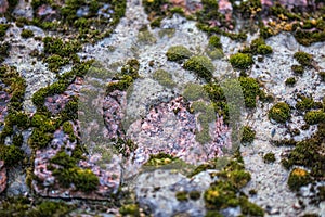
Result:
M310 175L307 170L295 168L289 175L288 186L292 191L298 191L300 187L307 186L311 181Z

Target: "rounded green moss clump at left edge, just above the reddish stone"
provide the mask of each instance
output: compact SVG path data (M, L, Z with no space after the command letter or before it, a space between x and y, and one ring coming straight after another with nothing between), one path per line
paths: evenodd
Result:
M16 145L0 144L0 159L4 161L8 167L20 164L24 158L24 152Z

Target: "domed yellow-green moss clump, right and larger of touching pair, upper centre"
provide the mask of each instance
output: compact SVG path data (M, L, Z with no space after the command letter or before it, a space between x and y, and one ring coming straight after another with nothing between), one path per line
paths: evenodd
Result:
M191 58L184 63L183 67L187 71L193 71L199 78L208 82L211 81L216 69L210 59L204 55Z

